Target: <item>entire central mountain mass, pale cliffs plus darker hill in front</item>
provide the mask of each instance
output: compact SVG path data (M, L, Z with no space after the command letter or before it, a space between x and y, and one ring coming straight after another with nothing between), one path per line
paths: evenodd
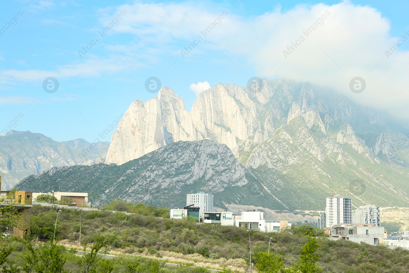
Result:
M148 102L134 101L119 122L106 156L107 164L118 166L54 168L18 187L43 188L56 177L60 187L70 185L67 190L85 190L81 184L88 183L100 189L90 197L98 204L122 198L174 205L183 203L187 192L204 190L215 194L215 201L219 197L220 207L244 202L323 210L330 194L351 196L354 206L408 207L409 149L403 132L382 111L309 83L259 79L256 88L218 83L200 93L190 112L164 87ZM207 152L198 153L195 145ZM226 159L219 147L228 147L223 153L234 157ZM200 165L200 175L193 175L197 156L210 154L224 158L217 164L241 171L225 181L224 172ZM173 172L165 171L169 166ZM103 180L94 168L101 168ZM72 177L78 178L75 183ZM149 194L152 187L160 194Z

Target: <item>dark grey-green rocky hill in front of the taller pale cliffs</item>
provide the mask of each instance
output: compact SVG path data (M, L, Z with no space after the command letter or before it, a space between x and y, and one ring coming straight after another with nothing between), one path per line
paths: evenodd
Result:
M250 199L251 194L243 187L249 183L248 177L245 167L226 145L201 140L174 142L119 166L54 167L27 177L16 187L29 191L88 192L94 205L124 199L173 208L183 207L186 192L196 192L198 188L214 192L220 204L233 196Z

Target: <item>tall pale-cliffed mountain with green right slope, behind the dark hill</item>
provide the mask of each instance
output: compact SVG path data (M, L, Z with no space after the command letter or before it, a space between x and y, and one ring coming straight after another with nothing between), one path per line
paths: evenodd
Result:
M331 193L352 196L356 205L408 205L408 141L387 115L309 83L258 85L218 83L190 112L168 87L146 103L134 101L106 162L121 165L175 141L211 139L252 172L254 196L267 194L284 208L323 209Z

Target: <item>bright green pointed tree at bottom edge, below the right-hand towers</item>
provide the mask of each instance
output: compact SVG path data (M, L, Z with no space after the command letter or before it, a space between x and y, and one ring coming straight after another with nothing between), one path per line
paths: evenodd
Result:
M307 243L301 248L299 253L300 260L295 265L295 267L301 273L319 273L321 272L321 268L319 268L316 264L318 262L319 257L323 255L315 254L315 251L320 247L318 244L320 240L317 240L313 237L308 236Z

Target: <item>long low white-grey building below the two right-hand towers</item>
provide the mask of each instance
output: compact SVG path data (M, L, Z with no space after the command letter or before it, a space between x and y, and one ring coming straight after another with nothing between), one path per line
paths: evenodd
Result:
M370 245L377 245L383 243L385 235L385 230L382 227L340 224L331 227L330 236L355 243L364 242Z

